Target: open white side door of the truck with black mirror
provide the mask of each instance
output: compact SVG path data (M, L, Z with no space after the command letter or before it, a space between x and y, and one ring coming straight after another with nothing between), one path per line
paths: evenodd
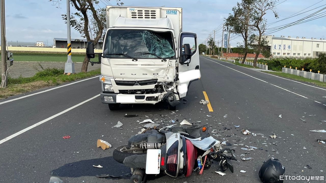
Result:
M192 81L200 78L197 35L181 32L179 35L179 95L185 97Z

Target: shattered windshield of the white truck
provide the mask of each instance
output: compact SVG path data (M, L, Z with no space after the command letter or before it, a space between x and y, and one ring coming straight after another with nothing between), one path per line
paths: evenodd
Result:
M109 30L106 37L104 57L124 57L122 55L106 55L124 53L135 58L174 58L171 32L154 32L149 30Z

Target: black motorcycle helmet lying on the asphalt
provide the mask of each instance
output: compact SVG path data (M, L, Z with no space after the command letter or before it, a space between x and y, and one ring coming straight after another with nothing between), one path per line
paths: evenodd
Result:
M262 183L283 183L280 176L284 176L285 168L277 159L270 158L261 166L259 178Z

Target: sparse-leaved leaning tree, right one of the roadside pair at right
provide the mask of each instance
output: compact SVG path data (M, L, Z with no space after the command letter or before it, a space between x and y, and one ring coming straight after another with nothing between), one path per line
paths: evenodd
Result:
M268 46L268 41L266 36L263 36L266 31L266 23L267 20L264 18L267 11L271 10L274 13L274 17L278 18L278 14L275 11L276 3L278 0L242 0L247 3L252 8L251 24L249 26L254 27L255 31L258 34L250 35L250 42L252 47L255 49L255 59L254 59L254 67L256 67L257 59L260 53L266 54L266 47ZM266 55L267 56L267 55Z

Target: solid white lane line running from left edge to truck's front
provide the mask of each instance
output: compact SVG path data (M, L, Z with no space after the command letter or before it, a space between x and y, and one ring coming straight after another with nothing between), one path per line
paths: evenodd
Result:
M32 129L32 128L34 128L34 127L36 127L36 126L38 126L38 125L40 125L40 124L42 124L42 123L45 123L45 122L47 122L47 121L49 121L49 120L52 120L53 118L55 118L55 117L57 117L57 116L60 116L60 115L62 115L62 114L64 114L64 113L70 111L70 110L73 109L73 108L76 108L76 107L78 107L78 106L80 106L80 105L82 105L82 104L85 104L86 102L88 102L88 101L90 101L90 100L93 100L93 99L95 99L95 98L98 97L98 96L100 96L100 94L95 95L94 97L92 97L92 98L90 98L90 99L87 99L87 100L85 100L85 101L83 101L83 102L81 102L81 103L79 103L79 104L77 104L77 105L75 105L75 106L72 106L72 107L70 107L70 108L67 108L66 110L64 110L64 111L62 111L62 112L59 112L58 114L55 114L55 115L53 115L53 116L51 116L51 117L49 117L49 118L47 118L47 119L45 119L45 120L42 120L42 121L40 121L40 122L38 122L38 123L35 123L35 124L33 124L32 126L29 126L29 127L25 128L25 129L23 129L23 130L21 130L21 131L15 133L15 134L12 134L12 135L8 136L7 138L4 138L4 139L0 140L0 144L2 144L2 143L4 143L4 142L6 142L6 141L8 141L8 140L10 140L10 139L12 139L12 138L18 136L18 135L20 135L20 134L22 134L22 133L24 133L24 132L27 132L28 130L30 130L30 129Z

